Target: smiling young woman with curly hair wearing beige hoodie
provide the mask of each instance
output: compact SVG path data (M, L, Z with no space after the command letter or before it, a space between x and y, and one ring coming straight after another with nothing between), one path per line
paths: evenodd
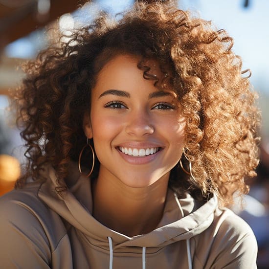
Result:
M258 164L232 39L173 3L100 16L25 66L28 166L0 199L3 268L256 268L225 206Z

